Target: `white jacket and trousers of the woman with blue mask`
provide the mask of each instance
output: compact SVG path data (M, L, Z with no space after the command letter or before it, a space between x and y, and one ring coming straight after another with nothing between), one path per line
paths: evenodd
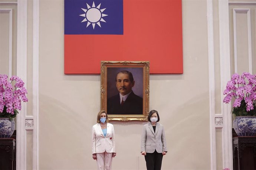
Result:
M103 135L101 125L92 126L92 154L96 153L99 170L110 170L112 153L115 151L115 131L111 123L107 123L106 136Z

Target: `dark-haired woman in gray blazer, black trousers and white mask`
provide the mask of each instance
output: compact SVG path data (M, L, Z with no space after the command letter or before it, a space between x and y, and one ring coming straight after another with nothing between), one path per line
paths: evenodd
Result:
M163 156L167 153L164 126L157 110L148 114L148 123L143 126L141 154L145 156L147 170L161 170Z

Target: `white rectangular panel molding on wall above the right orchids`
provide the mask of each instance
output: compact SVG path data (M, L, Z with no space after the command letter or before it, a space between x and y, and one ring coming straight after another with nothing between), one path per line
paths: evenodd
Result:
M237 35L236 35L236 13L246 12L247 14L247 38L248 38L248 65L249 72L252 74L252 31L251 31L251 14L250 9L234 8L233 9L233 31L234 31L234 71L237 73Z

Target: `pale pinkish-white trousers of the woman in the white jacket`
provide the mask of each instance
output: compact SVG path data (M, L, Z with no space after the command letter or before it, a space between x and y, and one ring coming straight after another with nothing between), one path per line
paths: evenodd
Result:
M98 170L111 170L112 153L96 153Z

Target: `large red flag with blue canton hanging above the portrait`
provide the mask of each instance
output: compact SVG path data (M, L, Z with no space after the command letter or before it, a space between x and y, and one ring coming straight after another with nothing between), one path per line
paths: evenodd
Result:
M150 61L183 73L181 0L65 0L65 74L100 74L101 61Z

